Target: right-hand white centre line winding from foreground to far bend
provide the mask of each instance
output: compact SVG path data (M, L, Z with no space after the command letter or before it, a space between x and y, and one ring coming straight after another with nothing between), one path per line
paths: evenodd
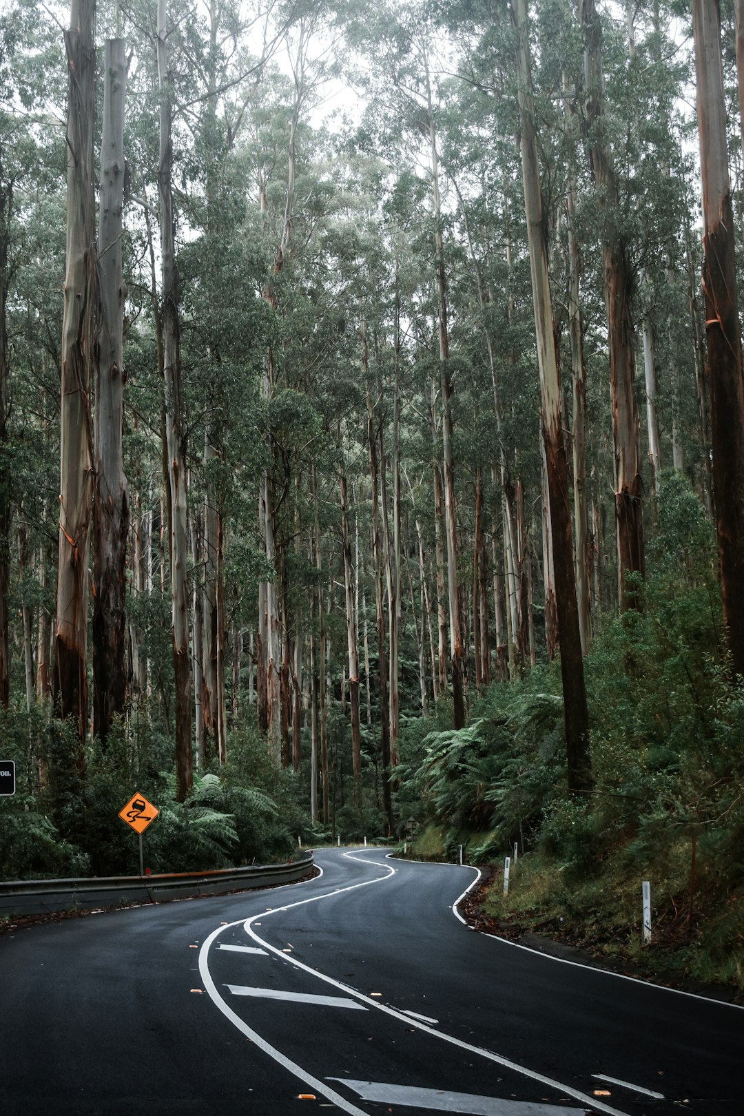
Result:
M332 895L338 895L340 892L354 892L359 887L369 887L370 884L383 883L385 879L389 879L392 876L394 876L397 870L396 868L393 868L389 865L379 864L379 862L377 860L367 860L365 859L365 857L355 856L352 853L345 853L344 856L350 860L359 860L361 864L370 864L377 868L387 867L388 875L378 876L375 879L366 879L360 884L350 884L348 887L339 887L334 892L326 892L325 895L316 895L308 899L300 899L298 903L290 903L287 905L286 910L289 911L292 907L305 906L307 903L315 903L320 899L330 898ZM476 868L472 870L477 872ZM387 1004L380 1003L379 1000L373 1000L371 997L365 995L364 992L359 992L358 989L350 988L348 984L342 984L340 981L335 980L332 977L327 977L325 973L318 972L317 969L311 969L310 965L306 965L302 961L298 961L297 958L290 956L287 953L282 953L280 949L278 949L274 945L271 945L262 937L259 937L259 935L253 930L251 923L255 922L258 918L264 920L269 916L269 914L276 914L276 913L277 913L276 911L272 912L264 911L261 914L252 915L250 918L247 918L245 922L243 923L243 930L249 935L249 937L252 937L253 941L262 945L263 949L269 950L270 953L274 953L278 958L281 958L282 961L288 961L290 964L297 965L298 969L302 969L305 972L310 973L311 977L316 977L318 980L322 980L327 984L331 984L334 988L339 989L347 995L356 997L358 1000L360 1000L363 1003L366 1003L370 1008L377 1008L378 1011L384 1011L386 1014L392 1016L394 1019L398 1019L406 1023L408 1022L408 1018L404 1016L402 1011L398 1011L396 1008L389 1008ZM207 939L207 941L210 940L211 939ZM204 943L204 946L205 945L206 942ZM204 946L202 946L202 950L204 950ZM202 953L200 953L200 968L201 968L201 960L202 960ZM627 1113L622 1113L618 1108L611 1108L609 1105L603 1104L596 1097L590 1097L586 1093L581 1093L579 1091L579 1089L574 1089L570 1085L564 1085L563 1081L555 1080L555 1078L545 1077L543 1074L538 1074L537 1070L526 1069L524 1066L520 1066L519 1062L511 1061L511 1059L504 1058L502 1057L502 1055L495 1054L493 1050L485 1050L482 1047L472 1046L470 1042L464 1042L462 1039L455 1038L453 1035L447 1035L445 1031L434 1030L434 1028L423 1022L419 1024L419 1030L426 1031L428 1035L432 1035L434 1038L442 1039L444 1042L450 1042L453 1046L460 1047L461 1050L467 1050L470 1054L479 1055L481 1058L486 1058L489 1061L495 1061L499 1066L503 1066L505 1069L514 1070L514 1072L520 1074L522 1077L529 1077L530 1080L532 1081L540 1081L541 1085L547 1085L551 1089L557 1089L563 1096L573 1097L574 1100L580 1100L581 1104L586 1105L589 1108L593 1108L596 1112L607 1113L607 1116L627 1116Z

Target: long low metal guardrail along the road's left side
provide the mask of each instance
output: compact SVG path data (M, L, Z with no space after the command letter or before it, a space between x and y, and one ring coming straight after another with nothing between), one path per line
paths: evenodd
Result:
M312 864L312 853L308 852L286 864L216 872L102 876L97 879L12 879L0 882L0 917L112 907L119 903L157 903L291 884L306 876Z

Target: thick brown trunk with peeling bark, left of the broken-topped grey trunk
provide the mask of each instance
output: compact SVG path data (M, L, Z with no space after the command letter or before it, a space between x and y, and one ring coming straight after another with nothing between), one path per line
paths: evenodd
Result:
M90 346L94 305L93 128L95 0L73 0L65 35L68 64L67 267L61 344L59 562L55 705L77 724L75 762L85 767L88 720L88 542L93 469Z

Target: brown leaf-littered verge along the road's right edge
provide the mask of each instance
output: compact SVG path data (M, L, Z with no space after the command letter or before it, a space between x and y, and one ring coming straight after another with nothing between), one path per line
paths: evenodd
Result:
M744 1006L744 991L741 989L729 984L704 983L685 977L682 958L678 959L678 966L676 965L674 947L657 946L656 951L649 949L644 963L639 964L629 955L625 955L622 945L617 941L609 943L598 940L596 931L590 933L576 926L563 930L551 918L549 932L542 930L538 932L534 918L528 918L524 914L496 917L487 908L489 897L491 892L501 885L500 869L481 868L477 885L458 904L462 917L473 930L506 939L516 945L547 953L562 961L603 969L622 977L703 995L711 1000ZM608 944L616 951L612 956L608 956L603 951Z

